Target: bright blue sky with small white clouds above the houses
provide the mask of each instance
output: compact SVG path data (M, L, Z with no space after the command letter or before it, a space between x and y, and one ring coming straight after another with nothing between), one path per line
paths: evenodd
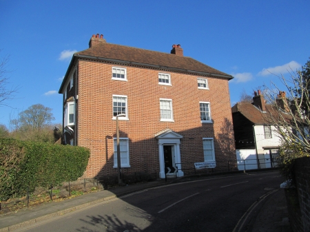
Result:
M243 89L278 83L273 74L309 60L309 10L309 0L0 0L0 56L10 55L8 87L19 87L10 107L0 107L0 124L37 103L61 123L58 90L72 52L87 49L97 33L107 43L158 52L180 44L185 56L235 76L234 105Z

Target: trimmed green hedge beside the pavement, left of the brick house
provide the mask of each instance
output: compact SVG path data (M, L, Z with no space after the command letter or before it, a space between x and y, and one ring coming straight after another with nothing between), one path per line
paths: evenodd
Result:
M89 157L90 151L83 147L0 139L0 201L35 187L77 180Z

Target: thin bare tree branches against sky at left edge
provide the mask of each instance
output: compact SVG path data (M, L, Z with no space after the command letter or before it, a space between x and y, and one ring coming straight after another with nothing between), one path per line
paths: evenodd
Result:
M1 50L0 50L1 52ZM0 106L8 106L7 101L12 100L17 93L16 87L8 87L8 61L9 56L0 57Z

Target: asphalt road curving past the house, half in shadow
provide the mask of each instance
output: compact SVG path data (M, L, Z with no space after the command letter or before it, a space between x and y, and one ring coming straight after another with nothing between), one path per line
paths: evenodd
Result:
M278 172L268 172L180 182L132 193L19 231L231 232L249 207L278 189L282 180ZM253 211L247 218L255 215Z

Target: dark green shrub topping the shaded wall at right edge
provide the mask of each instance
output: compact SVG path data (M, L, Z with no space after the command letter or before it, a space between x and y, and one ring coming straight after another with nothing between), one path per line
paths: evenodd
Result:
M291 185L295 185L295 172L294 165L296 158L307 156L309 153L305 149L302 143L285 143L281 145L279 150L280 153L280 171L286 180L290 182Z

